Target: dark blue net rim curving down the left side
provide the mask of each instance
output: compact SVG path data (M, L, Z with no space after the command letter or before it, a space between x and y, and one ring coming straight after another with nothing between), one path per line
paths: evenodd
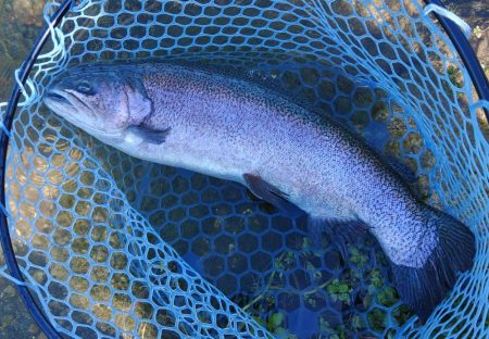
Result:
M3 126L9 133L2 133L0 137L0 204L5 206L5 163L7 163L7 149L9 146L10 130L12 129L12 121L14 113L17 109L18 100L22 93L22 86L27 81L28 75L37 61L39 53L42 50L46 41L49 39L52 33L52 28L58 26L63 16L70 11L72 5L75 5L76 0L64 0L58 10L51 15L50 22L42 28L41 34L34 43L30 53L23 62L21 71L18 72L18 81L15 81L15 86L12 89L9 98L9 104L7 106L5 116L3 117ZM12 239L9 234L8 216L7 213L0 213L0 241L3 249L3 255L5 258L7 266L9 267L10 275L17 279L20 282L25 282L22 276L21 268L15 259L15 253L12 246ZM45 335L50 339L61 339L61 335L54 328L53 324L49 321L40 306L36 303L33 294L25 285L15 284L18 293L21 294L24 303L29 311L30 315L41 328Z

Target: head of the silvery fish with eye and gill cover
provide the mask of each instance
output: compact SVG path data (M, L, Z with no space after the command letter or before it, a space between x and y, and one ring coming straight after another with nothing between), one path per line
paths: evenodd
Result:
M127 66L78 66L43 96L58 115L96 136L120 136L152 111L141 75Z

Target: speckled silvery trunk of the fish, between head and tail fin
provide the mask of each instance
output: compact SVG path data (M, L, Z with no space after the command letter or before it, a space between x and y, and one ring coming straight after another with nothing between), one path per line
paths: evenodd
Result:
M421 267L436 246L425 206L333 122L254 84L191 68L149 68L143 84L153 102L146 124L171 133L123 151L242 184L243 174L258 175L312 218L364 222L398 264Z

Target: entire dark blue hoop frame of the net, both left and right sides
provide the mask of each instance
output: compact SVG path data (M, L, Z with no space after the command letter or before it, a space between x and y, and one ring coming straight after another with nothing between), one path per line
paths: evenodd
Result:
M431 1L426 1L426 2L431 2L431 3L436 3L437 5L442 5L438 0L431 0ZM22 88L23 88L23 86L26 85L26 80L27 80L28 74L30 72L30 68L34 65L34 63L36 62L36 58L39 54L43 42L46 42L46 40L49 38L50 34L52 33L52 27L54 27L62 20L62 16L70 9L73 9L75 7L76 7L75 1L66 0L61 4L61 7L58 9L58 11L49 20L50 25L43 30L43 33L41 34L39 39L36 41L32 53L27 58L26 62L23 64L23 67L21 68L21 72L20 72L20 80L15 85L15 88L12 91L11 99L9 100L9 106L7 109L7 114L5 114L3 126L2 126L3 133L1 135L1 140L0 140L0 143L2 145L1 154L2 154L2 159L3 159L1 172L0 172L0 179L3 183L3 185L0 189L0 202L1 202L2 206L4 206L4 204L5 204L5 200L4 200L4 198L5 198L5 194L4 194L4 171L5 171L4 162L5 162L5 158L7 158L7 147L9 143L9 131L11 129L13 114L15 113L15 110L16 110L16 106L18 103L18 99L23 91ZM481 99L479 101L480 105L484 108L487 108L487 105L484 103L484 100L489 100L488 81L485 78L484 72L482 72L480 65L478 64L477 58L475 56L474 51L469 47L467 39L463 36L461 29L456 25L454 25L449 20L447 20L442 16L437 15L437 17L438 17L439 22L443 25L446 32L449 34L450 39L452 40L452 42L454 43L454 46L456 47L456 49L459 51L459 55L462 58L462 60L465 64L465 67L469 72L471 78L476 87L479 98ZM485 110L485 111L487 114L487 110ZM7 225L7 211L4 209L3 209L3 213L0 218L0 226L2 229L2 231L1 231L2 246L4 249L7 249L5 256L9 256L10 255L9 253L12 251L12 247L11 247L11 244L9 246L10 239L9 239L8 225ZM9 249L10 249L10 251L9 251ZM22 276L21 272L18 271L18 266L16 267L15 258L13 258L13 261L8 258L8 265L9 265L9 268L11 271L11 275L13 276L13 278L17 279L18 281L23 281L23 276ZM46 321L46 318L43 317L42 312L39 312L39 310L36 311L37 306L35 305L34 301L32 300L32 296L28 292L28 289L25 286L23 286L22 284L17 284L17 288L21 291L21 296L24 298L26 304L28 305L29 311L33 313L34 318L39 323L40 327L46 331L48 337L50 337L50 338L59 337L59 334L57 334L55 330L52 329L52 327L50 326L49 321Z

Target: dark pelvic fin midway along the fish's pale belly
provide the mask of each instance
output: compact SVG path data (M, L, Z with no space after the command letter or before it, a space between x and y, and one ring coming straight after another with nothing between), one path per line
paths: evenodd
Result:
M260 176L246 173L242 177L244 178L248 188L258 198L269 202L274 206L287 213L302 214L304 212L288 200L287 193L283 192L272 184L266 183Z

